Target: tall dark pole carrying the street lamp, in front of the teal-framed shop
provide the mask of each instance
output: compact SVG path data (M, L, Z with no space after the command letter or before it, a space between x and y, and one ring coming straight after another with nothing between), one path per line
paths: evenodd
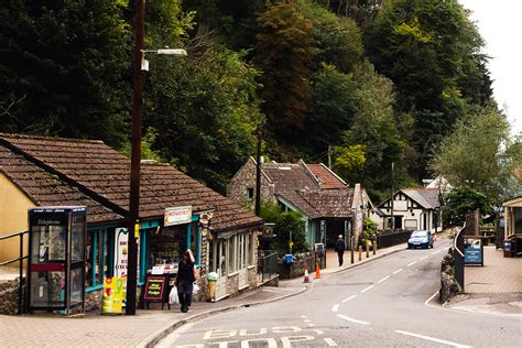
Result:
M141 50L143 50L144 22L145 1L138 0L135 4L130 198L129 215L127 217L127 230L129 233L129 257L127 264L126 315L135 315L135 295L138 285L138 246L134 228L138 222L140 211L141 113L143 107Z

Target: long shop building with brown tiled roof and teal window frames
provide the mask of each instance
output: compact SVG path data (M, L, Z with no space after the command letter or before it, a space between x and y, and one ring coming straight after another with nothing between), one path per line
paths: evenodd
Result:
M87 206L86 287L99 293L104 276L126 273L117 246L127 235L129 173L130 160L100 141L0 134L0 236L26 230L31 207ZM167 224L173 209L188 219ZM143 161L139 218L140 285L154 264L176 264L191 248L203 275L219 274L218 300L257 286L262 220L227 197L173 166ZM19 248L0 250L1 261Z

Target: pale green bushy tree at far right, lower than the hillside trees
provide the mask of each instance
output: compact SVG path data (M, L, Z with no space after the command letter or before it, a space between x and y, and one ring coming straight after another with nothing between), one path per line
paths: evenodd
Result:
M457 121L443 140L431 166L453 185L466 185L498 202L511 195L516 163L510 149L510 126L494 107L477 109Z

